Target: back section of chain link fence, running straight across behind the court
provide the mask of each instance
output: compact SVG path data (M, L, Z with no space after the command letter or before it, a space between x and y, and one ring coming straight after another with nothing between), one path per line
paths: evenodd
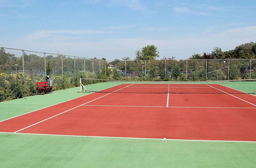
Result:
M147 80L239 80L256 78L255 59L108 61L119 77Z

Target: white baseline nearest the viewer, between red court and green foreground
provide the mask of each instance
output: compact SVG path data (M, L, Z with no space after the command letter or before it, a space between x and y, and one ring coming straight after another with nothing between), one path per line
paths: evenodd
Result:
M197 142L230 142L230 143L256 143L256 141L230 141L230 140L204 140L204 139L166 139L166 138L144 138L144 137L120 137L120 136L87 136L87 135L59 135L59 134L42 134L42 133L16 133L16 132L0 132L10 134L26 134L26 135L46 135L46 136L68 136L68 137L96 137L96 138L119 138L119 139L147 139L160 141L197 141Z

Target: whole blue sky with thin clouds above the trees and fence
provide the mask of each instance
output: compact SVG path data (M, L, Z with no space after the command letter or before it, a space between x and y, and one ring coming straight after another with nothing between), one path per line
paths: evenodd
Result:
M107 60L160 59L256 42L256 1L0 0L0 46Z

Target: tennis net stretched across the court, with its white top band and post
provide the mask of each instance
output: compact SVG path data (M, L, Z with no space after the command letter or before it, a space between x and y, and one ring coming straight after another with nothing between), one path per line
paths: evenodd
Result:
M80 92L111 93L112 90L98 91L96 85L125 85L125 89L114 93L141 94L255 94L256 79L229 81L141 81L80 78ZM106 87L107 88L107 87Z

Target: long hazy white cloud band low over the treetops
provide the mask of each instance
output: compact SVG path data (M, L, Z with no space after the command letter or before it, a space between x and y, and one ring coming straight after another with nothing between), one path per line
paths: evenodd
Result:
M155 45L163 56L175 56L177 59L187 59L194 53L211 52L214 47L221 47L222 50L234 49L234 47L251 41L256 42L256 25L239 27L236 29L224 30L220 33L195 34L191 37L146 39L143 37L98 40L87 39L65 39L65 36L55 37L52 35L97 33L87 30L60 30L41 31L37 34L30 34L26 38L9 43L9 47L25 48L46 52L59 51L62 54L77 55L87 58L106 58L108 60L121 59L123 57L135 58L135 51L145 45ZM51 35L51 36L49 36ZM30 38L28 38L30 37ZM33 37L33 38L32 38ZM41 38L44 37L43 40ZM73 36L72 36L73 37ZM1 44L8 46L7 43ZM28 47L29 46L29 47Z

